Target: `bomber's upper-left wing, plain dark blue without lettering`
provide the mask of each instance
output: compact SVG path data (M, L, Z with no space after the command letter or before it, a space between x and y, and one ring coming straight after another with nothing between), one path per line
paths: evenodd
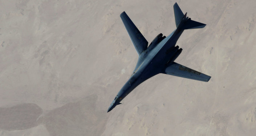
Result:
M125 28L131 38L131 41L133 41L133 45L137 51L137 53L140 55L142 51L147 49L147 40L145 37L139 32L139 29L133 24L133 21L128 17L128 15L123 12L120 15L123 24L125 25Z

